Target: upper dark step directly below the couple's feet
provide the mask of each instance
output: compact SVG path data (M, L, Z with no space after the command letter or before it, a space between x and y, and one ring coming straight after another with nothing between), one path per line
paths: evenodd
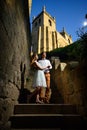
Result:
M14 114L76 114L76 106L69 104L18 104Z

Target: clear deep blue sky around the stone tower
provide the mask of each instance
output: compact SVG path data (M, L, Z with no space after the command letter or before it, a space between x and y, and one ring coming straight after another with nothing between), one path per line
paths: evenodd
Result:
M87 0L32 0L30 22L32 18L41 13L46 7L46 12L56 20L56 30L65 31L72 36L73 42L78 40L77 31L82 28L83 23L87 23Z

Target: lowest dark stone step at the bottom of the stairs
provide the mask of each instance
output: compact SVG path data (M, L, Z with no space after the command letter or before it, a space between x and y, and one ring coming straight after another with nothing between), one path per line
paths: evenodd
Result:
M11 128L83 129L86 122L76 114L15 114L10 117ZM86 127L87 128L87 127Z

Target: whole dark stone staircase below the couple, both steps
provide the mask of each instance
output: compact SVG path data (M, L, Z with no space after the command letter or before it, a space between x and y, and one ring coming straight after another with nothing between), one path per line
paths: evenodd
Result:
M84 130L86 122L69 104L18 104L10 117L12 130Z

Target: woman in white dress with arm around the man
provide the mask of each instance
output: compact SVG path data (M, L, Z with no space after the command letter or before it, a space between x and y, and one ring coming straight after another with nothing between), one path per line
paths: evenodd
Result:
M41 67L41 65L38 63L37 60L38 60L38 55L33 54L32 61L31 61L31 67L35 70L34 79L33 79L33 87L37 88L38 90L37 96L36 96L36 103L43 103L42 101L40 101L40 88L47 87L43 69L46 69L49 66Z

